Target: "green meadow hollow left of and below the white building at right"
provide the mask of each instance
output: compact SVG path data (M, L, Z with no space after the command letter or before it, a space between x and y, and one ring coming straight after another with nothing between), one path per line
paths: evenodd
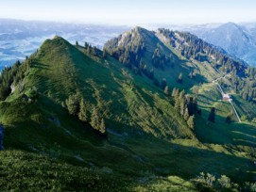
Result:
M240 117L245 115L240 107L249 110L249 107L253 105L239 104L235 99L239 98L238 95L232 94L231 97ZM210 83L201 86L196 93L196 98L199 107L202 109L201 117L196 120L196 137L199 140L207 143L247 146L251 150L255 148L255 124L247 121L239 123L230 103L222 100L222 95L215 84ZM216 109L214 123L207 121L212 107ZM230 123L227 122L229 114Z

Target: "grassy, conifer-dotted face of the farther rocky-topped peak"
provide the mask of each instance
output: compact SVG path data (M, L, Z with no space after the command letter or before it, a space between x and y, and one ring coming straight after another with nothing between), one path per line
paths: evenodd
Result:
M134 47L138 46L138 41L143 47L145 47L145 49L142 56L138 55L138 60L134 60L131 59L133 57L132 53L136 53L136 49L135 51L133 49ZM120 59L120 57L126 58L126 52L129 52L130 56L127 57L129 61L134 60L133 64L131 62L133 68L141 70L141 68L146 66L147 72L153 70L154 78L159 82L161 82L162 79L166 79L170 88L178 87L180 89L189 89L199 82L208 80L212 81L212 79L210 79L210 75L217 73L213 67L210 66L209 68L208 65L195 67L196 64L190 62L184 56L175 53L172 49L170 49L170 47L167 46L167 44L164 43L163 40L156 36L155 32L147 31L141 27L136 27L130 32L126 32L123 35L120 35L118 38L108 41L104 48L112 56L119 58L121 62L123 60ZM158 57L159 61L153 63L152 57L156 50L158 50L160 55ZM135 57L137 58L138 56ZM190 72L193 72L196 78L190 78ZM143 73L145 75L145 72ZM182 73L182 84L178 84L179 73Z

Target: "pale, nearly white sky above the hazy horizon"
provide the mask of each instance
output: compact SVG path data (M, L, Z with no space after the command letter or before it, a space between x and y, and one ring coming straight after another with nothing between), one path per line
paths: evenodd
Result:
M87 24L256 22L256 1L0 0L0 18Z

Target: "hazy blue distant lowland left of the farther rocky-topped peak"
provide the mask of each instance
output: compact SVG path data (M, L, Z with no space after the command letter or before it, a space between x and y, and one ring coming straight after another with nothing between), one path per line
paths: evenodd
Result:
M43 40L58 35L75 43L85 41L98 48L111 38L128 30L128 26L25 22L0 19L0 70L35 52Z

